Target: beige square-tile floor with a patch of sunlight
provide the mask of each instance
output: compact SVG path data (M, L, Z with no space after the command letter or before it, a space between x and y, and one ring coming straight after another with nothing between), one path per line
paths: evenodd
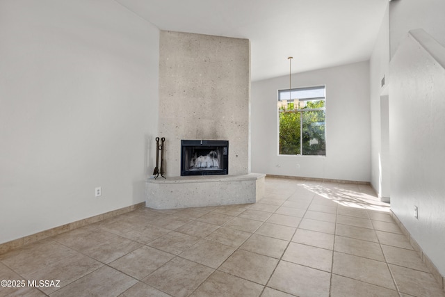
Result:
M370 186L266 178L255 204L138 209L0 255L26 284L0 296L445 296L388 211Z

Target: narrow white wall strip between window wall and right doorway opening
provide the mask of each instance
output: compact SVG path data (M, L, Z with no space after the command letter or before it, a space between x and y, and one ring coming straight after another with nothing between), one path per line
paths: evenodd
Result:
M383 15L378 38L369 60L369 71L369 88L371 93L371 184L381 198L389 198L391 195L389 139L385 137L389 128L385 125L388 119L382 118L381 115L382 110L387 111L387 86L391 80L389 77L389 8ZM384 87L381 84L383 77L385 77L386 82ZM385 114L387 115L387 112Z

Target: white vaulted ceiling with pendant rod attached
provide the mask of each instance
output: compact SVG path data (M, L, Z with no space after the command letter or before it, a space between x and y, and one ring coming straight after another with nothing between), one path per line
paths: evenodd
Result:
M252 81L369 60L388 0L117 0L161 30L248 38Z

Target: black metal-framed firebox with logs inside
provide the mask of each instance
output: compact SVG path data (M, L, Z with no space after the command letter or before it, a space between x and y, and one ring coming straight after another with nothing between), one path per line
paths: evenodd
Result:
M229 141L181 141L181 175L229 174Z

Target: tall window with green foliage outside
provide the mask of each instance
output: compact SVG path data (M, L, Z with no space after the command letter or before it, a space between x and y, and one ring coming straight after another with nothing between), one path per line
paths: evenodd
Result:
M279 154L326 155L325 86L278 90Z

